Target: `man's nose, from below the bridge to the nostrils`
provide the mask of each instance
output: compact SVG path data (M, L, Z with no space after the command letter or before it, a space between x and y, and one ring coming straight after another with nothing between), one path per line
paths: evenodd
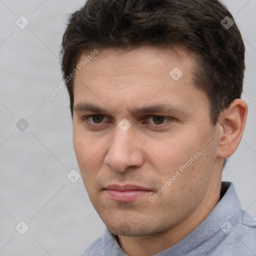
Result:
M108 143L108 150L104 163L112 170L123 172L128 167L139 167L143 164L141 141L133 134L130 128L122 131L116 127L115 135Z

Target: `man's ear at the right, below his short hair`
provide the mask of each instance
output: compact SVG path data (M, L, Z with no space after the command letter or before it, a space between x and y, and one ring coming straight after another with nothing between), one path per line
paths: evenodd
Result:
M241 141L247 112L246 102L237 98L220 114L217 157L227 158L236 150Z

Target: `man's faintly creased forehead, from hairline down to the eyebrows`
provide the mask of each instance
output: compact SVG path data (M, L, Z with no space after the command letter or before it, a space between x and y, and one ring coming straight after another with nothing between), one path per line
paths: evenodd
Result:
M88 51L81 54L77 64L88 55ZM193 55L181 47L100 50L74 77L74 106L97 102L120 111L120 106L128 109L161 101L198 107L207 98L201 91L194 93L194 65ZM204 102L199 102L200 98Z

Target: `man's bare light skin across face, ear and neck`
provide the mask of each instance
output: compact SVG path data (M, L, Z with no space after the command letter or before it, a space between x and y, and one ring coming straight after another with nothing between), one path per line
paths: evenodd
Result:
M74 77L73 145L81 176L91 203L129 256L163 251L210 213L219 201L223 158L240 142L246 103L235 99L213 125L208 98L193 85L194 66L192 54L181 47L107 48ZM169 75L174 67L183 73L176 81ZM86 110L84 103L105 110ZM154 104L173 109L130 111ZM97 117L85 119L93 114ZM131 124L127 131L118 126L123 118ZM149 196L198 151L200 156L151 202ZM113 183L149 191L118 202L104 189Z

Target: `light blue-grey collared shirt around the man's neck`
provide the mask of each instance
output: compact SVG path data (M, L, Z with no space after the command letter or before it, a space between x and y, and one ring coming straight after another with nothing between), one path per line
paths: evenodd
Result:
M256 219L241 209L234 186L222 182L223 196L210 214L181 241L155 256L256 256ZM107 228L81 256L127 256Z

